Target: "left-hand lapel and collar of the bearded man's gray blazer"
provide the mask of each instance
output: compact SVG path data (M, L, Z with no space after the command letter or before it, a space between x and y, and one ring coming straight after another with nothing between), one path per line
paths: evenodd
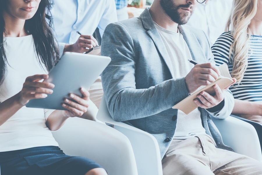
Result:
M144 10L143 13L141 13L140 18L141 18L141 21L143 23L144 29L147 30L147 34L151 37L151 39L155 43L155 46L156 46L157 50L159 51L160 55L162 56L163 60L165 61L166 65L169 69L170 74L174 78L174 71L173 71L171 61L169 59L169 55L167 53L167 49L164 45L164 42L163 42L160 34L158 33L158 31L155 27L155 23L153 22L153 19L152 19L150 13L149 13L148 7Z

